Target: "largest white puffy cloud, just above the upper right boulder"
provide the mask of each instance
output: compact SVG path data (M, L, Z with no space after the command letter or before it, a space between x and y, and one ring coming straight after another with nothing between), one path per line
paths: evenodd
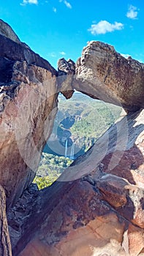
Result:
M91 28L88 29L88 31L91 32L91 34L105 34L107 32L113 32L115 30L121 30L124 28L124 24L118 23L115 21L115 23L109 23L107 20L101 20L97 24L92 24Z

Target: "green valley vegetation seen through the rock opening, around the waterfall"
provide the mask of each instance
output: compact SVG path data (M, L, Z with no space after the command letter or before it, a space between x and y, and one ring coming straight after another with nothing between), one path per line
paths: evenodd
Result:
M65 141L70 135L70 140L75 142L75 148L79 148L79 154L84 154L94 145L97 138L114 124L120 113L121 108L91 99L83 94L74 94L69 100L60 95L52 132L53 138L59 139L60 142ZM75 121L72 123L74 118ZM77 119L80 120L77 121ZM48 153L47 151L42 153L37 176L34 178L39 189L50 186L72 163L69 158Z

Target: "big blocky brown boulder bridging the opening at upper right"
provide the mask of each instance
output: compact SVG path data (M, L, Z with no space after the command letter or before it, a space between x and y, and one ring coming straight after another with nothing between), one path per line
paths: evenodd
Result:
M122 105L128 111L144 107L144 64L125 59L113 46L91 41L75 69L75 85L96 99Z

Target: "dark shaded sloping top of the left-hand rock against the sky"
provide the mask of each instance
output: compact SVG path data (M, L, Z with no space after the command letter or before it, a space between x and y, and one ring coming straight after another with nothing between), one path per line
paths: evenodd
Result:
M2 73L8 72L7 69L10 69L12 61L26 61L27 64L48 69L53 75L57 75L56 69L48 61L34 53L26 43L20 42L12 28L0 19L0 64Z

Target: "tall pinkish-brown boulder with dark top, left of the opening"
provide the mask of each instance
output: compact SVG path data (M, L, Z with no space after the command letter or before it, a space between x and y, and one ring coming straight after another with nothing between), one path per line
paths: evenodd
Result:
M10 206L34 179L53 129L57 72L2 21L0 28L0 184Z

